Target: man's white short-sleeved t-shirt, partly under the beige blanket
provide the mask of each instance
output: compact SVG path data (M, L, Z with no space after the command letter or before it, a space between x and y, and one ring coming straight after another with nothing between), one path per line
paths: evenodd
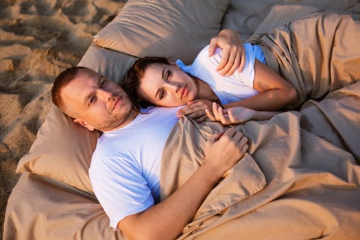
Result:
M112 228L160 200L161 156L179 108L146 108L146 114L97 141L89 177Z

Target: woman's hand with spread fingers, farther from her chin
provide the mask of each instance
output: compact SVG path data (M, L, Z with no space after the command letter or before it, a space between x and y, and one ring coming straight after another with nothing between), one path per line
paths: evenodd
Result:
M235 107L223 109L216 103L213 103L212 111L209 109L205 110L207 117L211 121L219 121L224 125L245 123L245 121L254 119L256 115L256 111L249 108Z

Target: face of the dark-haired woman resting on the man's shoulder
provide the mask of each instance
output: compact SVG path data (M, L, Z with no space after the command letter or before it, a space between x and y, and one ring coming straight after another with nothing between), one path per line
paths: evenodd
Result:
M197 86L176 64L150 64L140 80L138 95L164 107L182 106L195 99Z

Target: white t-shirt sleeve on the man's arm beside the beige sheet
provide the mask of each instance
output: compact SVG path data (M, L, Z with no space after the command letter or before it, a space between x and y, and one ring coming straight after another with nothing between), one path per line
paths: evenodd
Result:
M135 163L136 164L136 163ZM117 230L121 219L154 205L139 167L125 158L92 160L89 177L97 199Z

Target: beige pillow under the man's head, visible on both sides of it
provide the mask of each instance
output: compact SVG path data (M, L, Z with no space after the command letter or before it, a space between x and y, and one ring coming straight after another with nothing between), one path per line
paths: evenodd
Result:
M136 58L91 45L80 66L119 82ZM89 132L52 106L29 153L19 160L16 173L35 173L93 194L88 167L100 132Z

